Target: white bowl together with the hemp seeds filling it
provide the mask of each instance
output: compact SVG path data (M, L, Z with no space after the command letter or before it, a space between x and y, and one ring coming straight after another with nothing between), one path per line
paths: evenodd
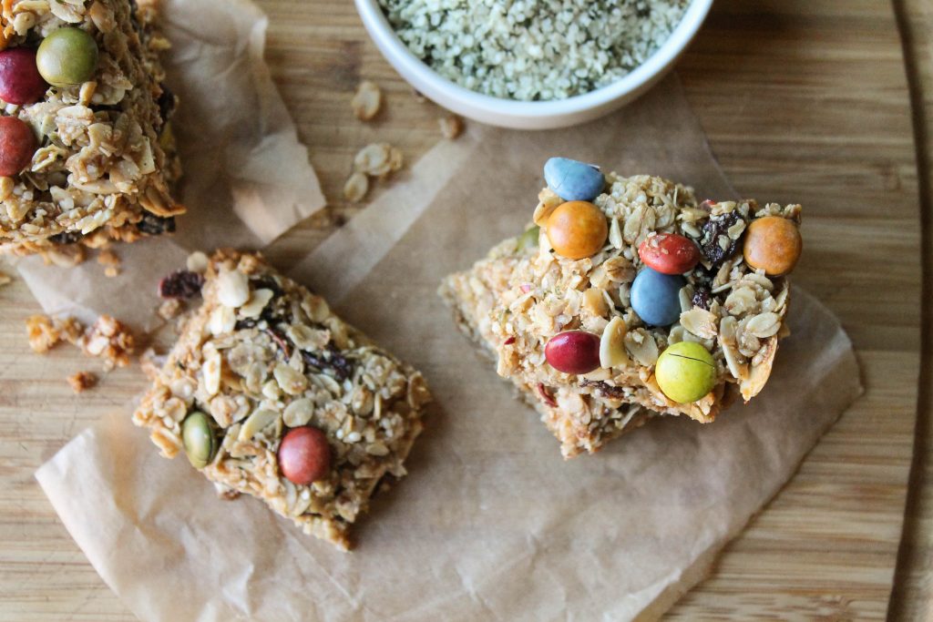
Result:
M713 0L355 0L415 90L481 123L577 125L650 89Z

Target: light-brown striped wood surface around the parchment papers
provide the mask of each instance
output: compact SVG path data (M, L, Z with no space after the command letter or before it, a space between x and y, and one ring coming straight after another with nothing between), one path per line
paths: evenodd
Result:
M332 202L268 251L285 267L360 209L340 199L360 146L389 142L413 161L439 140L444 113L411 96L369 43L352 3L258 4L271 19L273 76ZM933 467L926 458L933 434L924 423L930 392L919 403L917 393L921 372L933 380L928 354L923 366L920 356L921 267L923 259L929 270L931 256L922 243L930 216L921 217L918 183L929 210L929 171L918 182L915 158L928 167L924 154L933 148L930 13L928 0L719 0L678 65L734 186L759 200L804 204L806 253L796 282L842 318L867 393L672 619L884 618L918 404L921 455L891 611L904 619L929 613ZM911 35L906 46L898 24ZM386 94L383 113L368 125L349 108L361 78ZM926 121L912 117L912 101ZM914 144L915 127L927 128L926 151ZM145 380L123 369L88 394L72 394L64 378L95 362L70 348L32 354L23 320L37 311L22 283L0 289L0 620L132 620L65 532L33 473ZM928 331L924 339L929 352Z

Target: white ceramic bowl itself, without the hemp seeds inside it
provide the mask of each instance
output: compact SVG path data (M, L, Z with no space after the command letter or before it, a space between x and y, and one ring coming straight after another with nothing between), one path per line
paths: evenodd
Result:
M439 76L398 38L378 0L355 0L363 24L376 47L396 71L425 97L458 115L516 130L548 130L602 117L650 89L674 66L696 35L713 0L692 0L683 19L661 48L627 76L582 95L550 102L519 102L482 95Z

